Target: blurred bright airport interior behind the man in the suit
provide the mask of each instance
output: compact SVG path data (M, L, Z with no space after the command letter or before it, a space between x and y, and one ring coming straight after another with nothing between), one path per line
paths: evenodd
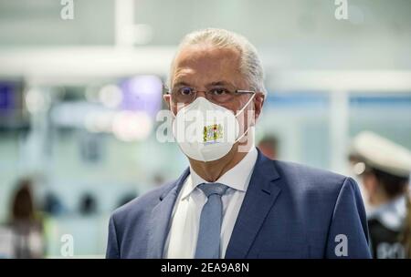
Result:
M181 174L156 115L195 29L257 46L256 136L276 159L350 175L363 130L411 149L409 0L349 0L346 20L333 0L74 0L72 19L61 3L0 0L0 257L61 257L64 234L74 256L103 257L111 211Z

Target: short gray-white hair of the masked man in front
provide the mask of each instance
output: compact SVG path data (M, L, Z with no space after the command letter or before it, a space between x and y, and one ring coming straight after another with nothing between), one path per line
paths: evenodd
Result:
M267 94L264 87L264 70L261 61L258 57L257 49L253 46L246 37L237 35L236 33L224 30L207 28L204 30L195 31L184 36L184 39L178 46L170 68L170 76L168 78L168 86L172 85L172 76L174 74L175 57L178 56L184 46L193 46L200 44L210 44L218 48L235 48L239 51L240 70L246 77L248 86L252 89Z

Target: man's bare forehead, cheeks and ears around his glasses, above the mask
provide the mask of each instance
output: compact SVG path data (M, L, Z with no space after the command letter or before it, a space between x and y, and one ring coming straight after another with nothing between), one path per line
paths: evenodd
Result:
M237 49L208 45L185 46L175 58L174 76L171 80L171 87L195 88L198 91L196 97L205 97L203 91L213 87L225 87L231 91L251 88L240 71L240 53ZM236 114L247 104L249 97L250 94L239 95L220 106ZM165 95L164 99L174 114L184 107L181 103L176 103L170 95ZM264 96L258 93L246 108L245 117L247 118L248 110L255 110L255 118L258 118L263 101Z

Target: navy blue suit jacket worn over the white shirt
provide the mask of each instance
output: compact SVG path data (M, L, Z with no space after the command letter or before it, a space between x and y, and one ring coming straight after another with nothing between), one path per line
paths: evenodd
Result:
M113 212L107 258L162 258L174 202L189 173ZM258 151L225 258L370 257L353 179Z

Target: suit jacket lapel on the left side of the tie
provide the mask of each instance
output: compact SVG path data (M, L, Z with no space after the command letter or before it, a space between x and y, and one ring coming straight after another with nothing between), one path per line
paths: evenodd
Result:
M189 169L184 170L184 173L180 178L175 181L172 189L165 191L160 196L160 202L152 211L151 223L149 226L147 258L161 259L163 257L163 246L170 228L174 202L189 173Z

